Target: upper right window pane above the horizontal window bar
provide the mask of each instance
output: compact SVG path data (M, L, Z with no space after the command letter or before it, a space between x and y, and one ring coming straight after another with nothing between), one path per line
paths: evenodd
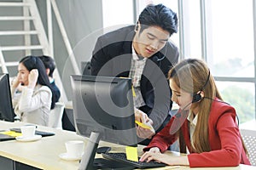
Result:
M212 0L211 7L214 75L254 77L253 1Z

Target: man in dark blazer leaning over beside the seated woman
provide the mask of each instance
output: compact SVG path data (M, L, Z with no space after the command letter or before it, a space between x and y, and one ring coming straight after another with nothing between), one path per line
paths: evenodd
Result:
M169 42L176 32L177 14L162 4L149 4L136 26L102 35L93 50L92 75L131 78L136 119L153 126L150 130L137 127L142 139L150 139L154 129L159 131L172 109L166 77L178 61L177 47Z

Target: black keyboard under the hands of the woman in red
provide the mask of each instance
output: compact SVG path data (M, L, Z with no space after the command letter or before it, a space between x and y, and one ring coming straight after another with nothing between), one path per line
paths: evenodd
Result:
M119 161L124 162L126 164L129 164L131 166L137 167L137 168L150 168L150 167L166 167L165 163L160 163L157 161L130 161L126 159L125 153L102 153L103 158L113 161Z

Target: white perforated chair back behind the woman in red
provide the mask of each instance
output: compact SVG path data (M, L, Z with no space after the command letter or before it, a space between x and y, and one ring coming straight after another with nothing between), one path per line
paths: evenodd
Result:
M256 131L240 129L240 132L249 153L249 160L253 166L256 166Z

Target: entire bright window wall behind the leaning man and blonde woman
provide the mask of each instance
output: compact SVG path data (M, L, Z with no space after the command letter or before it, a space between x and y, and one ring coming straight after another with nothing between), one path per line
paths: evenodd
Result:
M205 59L222 97L236 108L240 122L255 119L253 10L256 3L252 0L138 2L140 10L148 3L163 3L177 12L179 31L172 38L180 48L181 58Z

